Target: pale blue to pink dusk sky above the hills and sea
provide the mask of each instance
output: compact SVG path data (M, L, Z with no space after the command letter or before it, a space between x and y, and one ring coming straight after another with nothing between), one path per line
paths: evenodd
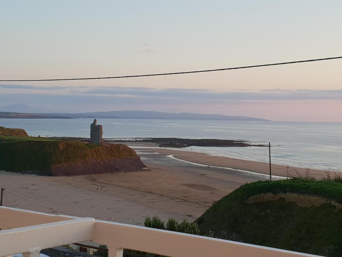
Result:
M0 79L106 77L342 56L342 1L3 1ZM342 122L342 59L0 82L0 107Z

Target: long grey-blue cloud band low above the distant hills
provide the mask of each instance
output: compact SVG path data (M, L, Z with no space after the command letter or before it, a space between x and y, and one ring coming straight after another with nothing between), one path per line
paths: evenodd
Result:
M83 102L112 102L127 104L261 104L267 101L316 101L316 100L342 100L342 89L337 90L313 90L313 89L263 89L260 91L232 91L220 92L211 89L185 89L185 88L152 88L152 87L61 87L61 86L31 86L31 85L2 85L3 88L15 88L13 93L1 92L3 97L23 98L29 94L19 94L17 89L51 90L51 94L31 93L33 99L53 99L58 94L58 100ZM59 89L68 89L53 91ZM46 91L45 91L46 92ZM44 92L44 93L45 93ZM54 94L54 95L53 95ZM1 101L0 98L0 101ZM37 100L38 101L38 100ZM52 101L56 101L53 99Z

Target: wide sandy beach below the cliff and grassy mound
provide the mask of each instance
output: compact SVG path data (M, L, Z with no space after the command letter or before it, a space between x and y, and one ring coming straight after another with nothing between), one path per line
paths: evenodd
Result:
M143 148L136 148L139 145ZM4 205L137 225L148 215L193 221L240 185L269 178L268 163L157 148L153 143L131 146L150 171L67 177L0 171L0 187L6 188L10 203L4 199ZM286 166L272 165L276 176L286 177L286 170ZM296 175L293 167L289 171ZM305 169L298 171L304 175ZM325 172L311 170L310 175L320 178Z

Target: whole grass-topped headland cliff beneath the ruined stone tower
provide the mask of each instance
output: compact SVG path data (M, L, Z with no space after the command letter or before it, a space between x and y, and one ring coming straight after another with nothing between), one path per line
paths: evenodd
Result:
M146 166L126 145L58 140L18 140L0 144L0 170L48 176L141 171Z

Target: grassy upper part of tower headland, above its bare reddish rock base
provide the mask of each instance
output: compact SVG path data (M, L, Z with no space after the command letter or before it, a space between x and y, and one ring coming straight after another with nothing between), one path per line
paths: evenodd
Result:
M0 170L52 175L54 165L137 157L133 149L120 144L96 145L31 137L11 139L1 143L0 138Z

